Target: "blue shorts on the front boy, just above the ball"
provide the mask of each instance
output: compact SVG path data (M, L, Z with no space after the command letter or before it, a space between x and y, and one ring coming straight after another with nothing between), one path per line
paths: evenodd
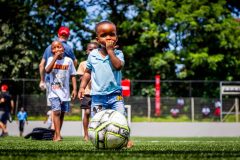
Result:
M121 93L111 93L109 95L92 95L91 116L105 109L113 109L126 116L124 100Z

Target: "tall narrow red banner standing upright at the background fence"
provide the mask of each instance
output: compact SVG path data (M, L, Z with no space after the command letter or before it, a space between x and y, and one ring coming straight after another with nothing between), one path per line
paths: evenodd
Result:
M160 116L161 114L161 84L160 75L155 76L155 116Z

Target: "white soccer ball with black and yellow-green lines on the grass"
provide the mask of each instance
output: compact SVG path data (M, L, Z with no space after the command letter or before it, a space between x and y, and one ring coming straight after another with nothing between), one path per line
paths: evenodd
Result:
M130 128L124 115L108 109L96 113L91 119L88 135L98 149L121 149L127 145Z

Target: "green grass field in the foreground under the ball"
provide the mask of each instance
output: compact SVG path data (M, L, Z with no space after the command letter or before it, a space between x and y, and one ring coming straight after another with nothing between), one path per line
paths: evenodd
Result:
M61 142L37 141L19 137L0 138L0 159L163 159L240 160L240 138L132 137L135 146L122 150L98 150L82 137L64 137Z

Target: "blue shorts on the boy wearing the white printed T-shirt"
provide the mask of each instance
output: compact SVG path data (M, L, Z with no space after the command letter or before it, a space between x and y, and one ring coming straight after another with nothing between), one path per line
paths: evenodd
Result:
M61 102L60 98L49 98L52 111L69 112L69 102Z

